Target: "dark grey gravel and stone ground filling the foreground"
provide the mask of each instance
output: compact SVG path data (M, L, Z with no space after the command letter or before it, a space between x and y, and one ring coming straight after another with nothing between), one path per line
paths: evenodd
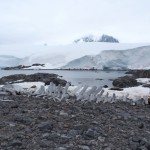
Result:
M150 106L0 101L0 150L150 150Z

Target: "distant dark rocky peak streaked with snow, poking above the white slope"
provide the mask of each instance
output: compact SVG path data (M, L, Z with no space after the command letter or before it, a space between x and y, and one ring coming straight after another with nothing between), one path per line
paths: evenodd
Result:
M88 35L82 38L76 39L74 43L82 43L82 42L109 42L109 43L119 43L119 41L113 36L105 35L102 36L94 36Z

